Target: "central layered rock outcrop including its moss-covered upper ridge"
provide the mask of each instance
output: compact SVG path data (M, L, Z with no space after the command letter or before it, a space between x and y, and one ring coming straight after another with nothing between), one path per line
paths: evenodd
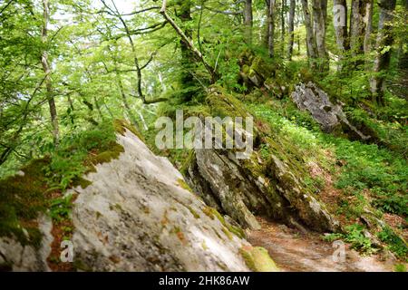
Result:
M213 113L248 117L238 100L216 89L209 92L207 103ZM234 132L227 133L232 138ZM274 141L271 131L267 134L254 128L254 140L270 148L267 160L257 150L247 160L238 160L234 150L194 150L183 170L189 185L242 227L259 228L255 215L260 215L302 229L337 230L338 222L302 182L302 172L293 166L296 160L290 162L287 148Z

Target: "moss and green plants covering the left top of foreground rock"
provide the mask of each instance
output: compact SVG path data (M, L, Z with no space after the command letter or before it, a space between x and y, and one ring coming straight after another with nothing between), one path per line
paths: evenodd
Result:
M126 125L126 126L125 126ZM65 136L58 149L32 160L13 177L0 180L0 236L14 235L22 244L39 246L41 234L35 219L39 213L61 222L69 217L72 200L63 192L91 185L83 175L100 163L117 159L123 148L115 132L131 128L115 121Z

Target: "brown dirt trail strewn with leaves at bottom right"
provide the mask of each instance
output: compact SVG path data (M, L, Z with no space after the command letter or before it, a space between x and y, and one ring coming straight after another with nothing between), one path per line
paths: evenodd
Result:
M336 263L335 247L316 233L301 233L277 222L257 218L260 230L250 231L248 241L265 247L283 272L391 272L392 262L377 256L361 256L346 246L345 262Z

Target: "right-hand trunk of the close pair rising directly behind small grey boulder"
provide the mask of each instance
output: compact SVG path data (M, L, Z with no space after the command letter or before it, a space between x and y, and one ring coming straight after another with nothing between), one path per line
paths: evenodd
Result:
M313 21L319 71L328 71L328 54L325 49L327 0L313 0Z

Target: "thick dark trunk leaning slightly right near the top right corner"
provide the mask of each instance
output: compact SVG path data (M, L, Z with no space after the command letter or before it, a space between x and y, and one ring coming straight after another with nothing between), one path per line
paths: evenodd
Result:
M384 105L384 72L389 68L391 61L391 46L393 45L393 20L396 0L378 0L380 20L376 43L376 57L374 61L374 76L372 80L373 101Z

